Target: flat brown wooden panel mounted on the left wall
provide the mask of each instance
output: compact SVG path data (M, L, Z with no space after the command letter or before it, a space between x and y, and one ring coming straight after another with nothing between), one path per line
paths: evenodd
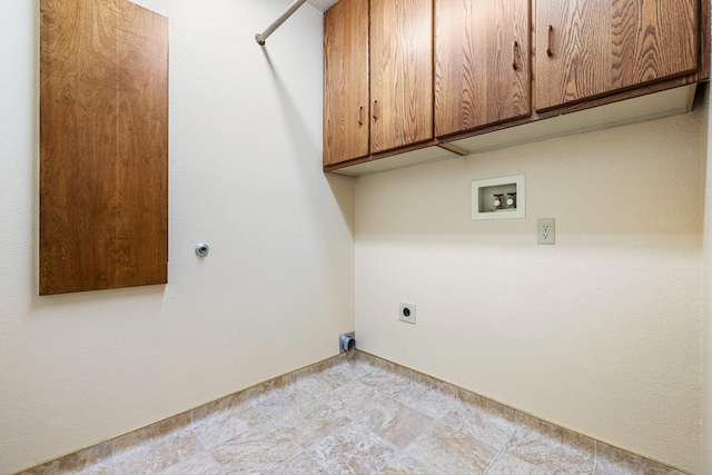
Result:
M168 20L40 1L40 295L165 284Z

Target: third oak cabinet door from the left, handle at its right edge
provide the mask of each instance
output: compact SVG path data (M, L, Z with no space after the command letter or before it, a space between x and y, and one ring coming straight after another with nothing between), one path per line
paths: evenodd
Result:
M435 135L531 115L528 0L435 0Z

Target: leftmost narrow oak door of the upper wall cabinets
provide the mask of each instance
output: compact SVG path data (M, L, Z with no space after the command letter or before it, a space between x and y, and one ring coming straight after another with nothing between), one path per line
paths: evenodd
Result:
M368 155L368 0L324 16L324 165Z

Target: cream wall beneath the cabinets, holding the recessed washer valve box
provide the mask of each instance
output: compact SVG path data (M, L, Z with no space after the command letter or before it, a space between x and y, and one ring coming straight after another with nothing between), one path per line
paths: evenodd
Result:
M358 178L359 348L699 472L701 119ZM518 174L526 218L472 221L471 181Z

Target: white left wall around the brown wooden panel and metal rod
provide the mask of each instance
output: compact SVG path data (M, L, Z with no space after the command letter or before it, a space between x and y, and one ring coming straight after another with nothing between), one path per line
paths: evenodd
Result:
M0 473L338 353L354 184L322 160L322 12L140 0L170 24L166 286L38 297L39 2L0 2ZM200 259L195 244L206 241Z

